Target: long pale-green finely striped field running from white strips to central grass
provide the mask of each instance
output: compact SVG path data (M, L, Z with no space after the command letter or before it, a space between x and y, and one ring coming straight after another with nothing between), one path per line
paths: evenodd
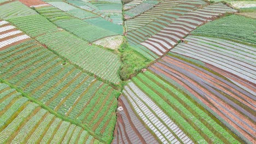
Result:
M102 77L102 79L112 83L118 83L120 81L117 74L120 62L118 56L114 53L96 46L89 46L86 41L83 41L68 32L60 31L60 29L58 29L53 23L49 22L45 17L40 16L39 14L17 17L10 19L9 21L18 26L22 31L28 33L31 37L37 37L40 35L40 37L36 38L40 43L45 44L55 51L57 51L56 49L61 49L61 52L57 52L73 63L82 61L83 64L91 65L91 67L94 67L96 64L98 65L97 69L88 70L89 72L94 73L97 76ZM74 41L76 42L75 44L79 44L79 46L71 49L70 45L75 46L73 45ZM95 55L95 52L97 51L104 53L104 56ZM90 56L90 61L88 61L88 59L84 59L83 56ZM112 59L109 59L108 56L112 57Z

